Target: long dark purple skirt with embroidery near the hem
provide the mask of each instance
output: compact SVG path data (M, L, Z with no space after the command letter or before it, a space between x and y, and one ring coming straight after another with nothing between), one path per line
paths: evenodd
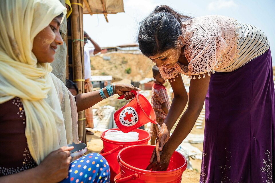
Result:
M270 49L235 71L211 75L205 105L200 183L275 182Z

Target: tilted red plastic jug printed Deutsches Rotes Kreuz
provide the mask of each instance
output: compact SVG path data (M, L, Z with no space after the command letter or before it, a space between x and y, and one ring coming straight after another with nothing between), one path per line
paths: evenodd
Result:
M136 91L136 97L114 114L115 124L124 133L131 132L148 122L156 123L156 114L149 101ZM119 97L122 99L123 96Z

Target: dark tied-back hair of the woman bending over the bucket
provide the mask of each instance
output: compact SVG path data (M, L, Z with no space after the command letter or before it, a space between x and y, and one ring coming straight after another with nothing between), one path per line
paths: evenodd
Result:
M192 23L192 17L182 15L167 5L157 6L140 24L138 44L145 56L162 53L178 45L182 28Z

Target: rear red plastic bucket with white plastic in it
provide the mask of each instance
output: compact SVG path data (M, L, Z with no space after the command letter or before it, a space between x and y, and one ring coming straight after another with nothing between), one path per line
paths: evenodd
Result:
M119 130L118 128L113 128L109 130ZM106 130L105 132L107 132ZM146 132L142 129L135 129L133 132L139 133L138 140L134 142L118 142L104 138L105 132L103 132L100 136L103 141L103 150L101 150L100 154L105 157L110 166L111 173L111 182L114 182L115 176L120 172L120 166L117 162L117 154L118 152L128 146L139 145L139 144L148 144L151 139L150 133Z

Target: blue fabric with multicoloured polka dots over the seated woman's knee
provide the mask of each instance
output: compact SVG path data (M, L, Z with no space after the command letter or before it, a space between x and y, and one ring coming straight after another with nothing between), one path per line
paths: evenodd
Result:
M87 154L71 162L68 176L60 183L109 183L110 168L103 156Z

